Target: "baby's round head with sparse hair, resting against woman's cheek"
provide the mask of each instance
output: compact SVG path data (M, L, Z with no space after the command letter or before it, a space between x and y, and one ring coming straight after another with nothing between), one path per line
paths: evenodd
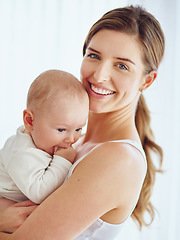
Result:
M37 148L53 154L54 147L68 148L81 135L89 99L72 74L48 70L31 84L23 120Z

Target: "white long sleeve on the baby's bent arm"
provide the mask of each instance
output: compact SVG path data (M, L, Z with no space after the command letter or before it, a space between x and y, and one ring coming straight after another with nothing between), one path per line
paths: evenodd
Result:
M17 152L7 170L20 191L39 204L64 182L71 166L65 158L29 148Z

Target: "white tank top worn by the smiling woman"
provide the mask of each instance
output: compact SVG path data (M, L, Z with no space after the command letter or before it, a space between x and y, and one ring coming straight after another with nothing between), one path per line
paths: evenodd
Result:
M144 150L139 143L129 140L129 139L117 140L117 141L111 141L111 142L122 142L122 143L128 143L128 144L132 145L133 147L135 147L137 150L140 151L140 153L143 155L144 159L146 160L146 155L144 153ZM98 145L96 145L94 148L96 148ZM78 165L79 162L81 162L81 160L86 155L87 154L85 154L84 156L79 158L72 165L66 179L68 179L72 175L74 168ZM133 210L134 209L132 209L132 212L133 212ZM120 224L111 224L111 223L104 222L102 219L98 218L92 225L90 225L86 230L84 230L84 232L82 232L74 240L115 240L117 238L117 236L119 235L125 222L126 221L124 221L123 223L120 223Z

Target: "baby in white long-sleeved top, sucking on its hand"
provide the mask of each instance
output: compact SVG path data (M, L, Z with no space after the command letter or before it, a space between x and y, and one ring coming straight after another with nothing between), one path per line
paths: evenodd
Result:
M88 95L70 73L48 70L31 84L24 125L0 150L0 197L41 203L75 160L72 147L86 124Z

